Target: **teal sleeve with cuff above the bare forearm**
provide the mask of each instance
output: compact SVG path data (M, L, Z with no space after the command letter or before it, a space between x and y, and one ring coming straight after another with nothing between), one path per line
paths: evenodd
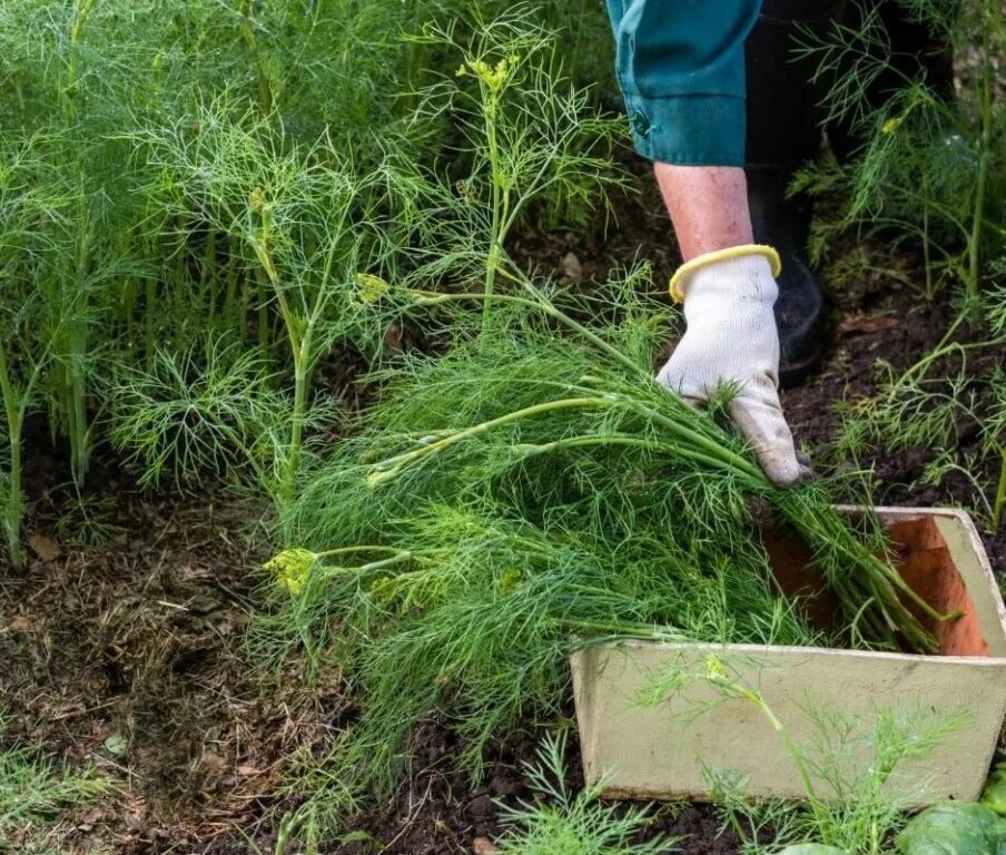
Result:
M637 150L681 166L744 163L744 40L761 0L608 0Z

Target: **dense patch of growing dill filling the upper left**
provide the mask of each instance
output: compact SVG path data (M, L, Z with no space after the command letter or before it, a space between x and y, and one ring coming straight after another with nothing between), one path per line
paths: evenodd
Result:
M585 0L535 9L539 20L575 18L578 38L606 27L603 10ZM432 175L447 158L457 170L477 161L464 147L446 147L451 110L456 106L460 114L460 105L424 112L430 102L420 92L440 79L447 49L432 31L408 35L431 21L454 20L452 38L461 45L475 31L484 37L497 13L526 22L529 10L515 12L499 0L474 7L456 0L193 0L171 9L160 0L2 4L4 146L24 148L40 165L32 176L38 197L60 199L58 217L32 224L51 263L33 322L38 341L23 346L47 353L33 389L53 441L69 445L78 487L93 446L109 433L127 455L137 451L127 446L145 397L158 405L154 419L168 413L161 382L170 371L168 351L188 355L186 384L199 385L201 368L209 390L221 371L239 373L238 365L224 363L245 343L270 361L262 395L292 390L287 435L280 439L274 426L266 442L255 443L255 454L272 446L263 466L266 490L289 501L303 434L308 421L317 421L307 411L332 410L312 400L317 360L344 344L359 345L367 358L379 353L355 333L334 333L342 301L331 298L325 277L337 274L341 293L353 291L357 274L369 277L357 279L355 293L372 293L391 275L392 245L418 243L406 210L408 195L423 183L418 165ZM500 32L507 26L501 23ZM583 57L603 61L600 51ZM584 73L586 59L576 60L581 77L594 76ZM542 69L521 73L548 82ZM584 105L576 108L585 117ZM549 127L554 130L554 122ZM591 130L586 122L579 144ZM221 151L231 144L236 148ZM249 149L239 151L241 145ZM216 166L226 171L228 160L234 169L225 176L227 188L200 184L205 176L193 173ZM260 180L241 184L235 169ZM553 185L553 198L573 184ZM531 195L541 199L548 191L539 187ZM304 204L294 212L297 194ZM396 194L398 202L391 202ZM238 210L246 215L241 222L230 216ZM333 249L331 269L323 244ZM12 305L16 293L4 295ZM359 303L339 305L339 317L362 317ZM378 313L371 315L376 328ZM376 341L369 332L364 337ZM228 345L204 350L207 340ZM109 409L106 391L122 377L134 390L146 379L149 394L129 397L129 406L128 395L119 396ZM191 403L191 395L179 390L176 413L186 412L186 400ZM120 415L127 423L117 429ZM184 442L185 423L159 435ZM176 449L175 463L207 460L187 456L193 448ZM135 460L148 451L149 442ZM141 474L149 482L157 476L152 470Z

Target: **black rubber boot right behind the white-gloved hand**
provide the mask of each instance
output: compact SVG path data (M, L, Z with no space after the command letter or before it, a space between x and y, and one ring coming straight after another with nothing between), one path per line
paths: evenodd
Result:
M786 196L793 173L821 145L812 67L793 61L793 37L798 24L829 26L842 6L834 0L765 0L746 46L744 171L754 240L775 246L782 259L776 324L783 387L800 383L818 366L828 325L827 302L807 258L812 204L809 197Z

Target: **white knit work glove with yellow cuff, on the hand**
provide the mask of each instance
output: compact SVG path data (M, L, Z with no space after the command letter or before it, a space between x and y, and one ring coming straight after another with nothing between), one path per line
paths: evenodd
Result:
M788 487L809 470L797 459L779 403L779 334L772 314L779 289L770 258L778 265L768 247L733 247L699 256L679 271L671 293L683 298L688 326L657 380L692 404L706 401L721 382L738 383L729 415L766 474Z

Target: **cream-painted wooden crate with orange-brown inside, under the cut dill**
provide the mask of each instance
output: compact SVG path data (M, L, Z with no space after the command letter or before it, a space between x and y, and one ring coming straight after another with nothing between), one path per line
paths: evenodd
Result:
M710 795L703 769L736 769L746 776L752 796L806 795L779 735L749 701L724 700L698 679L657 706L640 702L640 692L657 675L671 668L700 671L714 653L732 676L761 694L803 747L816 735L808 705L859 717L866 731L877 709L921 709L935 716L966 710L967 725L926 759L906 763L889 788L916 805L975 800L1006 715L1002 597L966 513L897 508L878 513L898 544L905 580L936 608L965 612L953 623L930 626L940 655L645 641L581 651L571 665L588 783L605 780L610 797L701 800ZM768 546L780 584L810 594L812 611L823 619L831 606L806 569L806 550L785 541ZM847 754L854 770L866 769L871 760L865 739L850 738Z

